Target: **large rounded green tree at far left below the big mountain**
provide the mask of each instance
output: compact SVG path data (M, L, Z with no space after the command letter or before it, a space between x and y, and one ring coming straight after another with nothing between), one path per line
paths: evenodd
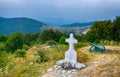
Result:
M24 39L21 33L12 34L8 40L6 41L6 51L7 52L15 52L17 49L21 49L24 44Z

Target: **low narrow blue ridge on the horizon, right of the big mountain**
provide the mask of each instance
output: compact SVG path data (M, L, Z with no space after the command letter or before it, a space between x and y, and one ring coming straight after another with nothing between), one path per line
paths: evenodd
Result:
M72 24L65 24L61 25L60 27L83 27L83 26L91 26L94 22L88 22L88 23L72 23Z

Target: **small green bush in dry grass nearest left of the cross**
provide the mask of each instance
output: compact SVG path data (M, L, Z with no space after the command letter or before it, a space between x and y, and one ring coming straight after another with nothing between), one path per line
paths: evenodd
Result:
M48 56L47 56L47 51L46 50L40 49L37 52L38 52L37 55L36 55L36 57L37 57L36 62L37 63L48 61Z

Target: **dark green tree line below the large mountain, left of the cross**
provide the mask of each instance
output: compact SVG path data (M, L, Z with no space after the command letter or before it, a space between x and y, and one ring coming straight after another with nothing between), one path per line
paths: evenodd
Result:
M0 47L0 50L13 53L17 49L22 49L26 46L30 47L34 44L45 44L48 42L66 44L65 39L68 37L68 34L53 30L44 30L35 34L15 32L9 36L0 36L0 42L5 43L4 47ZM75 37L79 40L81 38L78 35L75 35Z

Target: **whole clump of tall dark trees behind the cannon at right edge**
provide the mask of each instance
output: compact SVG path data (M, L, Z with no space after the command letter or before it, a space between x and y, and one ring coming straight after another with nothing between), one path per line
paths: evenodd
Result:
M84 39L90 42L115 41L120 42L120 16L113 21L97 21L91 30L84 35Z

